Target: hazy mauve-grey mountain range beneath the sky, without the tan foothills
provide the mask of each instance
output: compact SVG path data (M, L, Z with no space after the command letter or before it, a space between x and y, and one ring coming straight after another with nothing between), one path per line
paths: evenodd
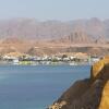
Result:
M70 22L34 19L0 21L0 38L19 37L29 39L61 39L68 37L74 43L106 41L109 39L109 20L76 20Z

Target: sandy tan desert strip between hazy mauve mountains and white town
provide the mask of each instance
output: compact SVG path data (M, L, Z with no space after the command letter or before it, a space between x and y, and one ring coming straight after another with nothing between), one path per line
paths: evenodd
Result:
M92 56L106 56L109 55L108 44L81 44L80 38L76 37L76 40L80 44L71 43L68 39L60 40L28 40L21 38L5 38L0 40L0 55L5 55L10 52L21 52L28 53L34 56L44 56L44 55L58 55L58 53L73 53L73 52L83 52Z

